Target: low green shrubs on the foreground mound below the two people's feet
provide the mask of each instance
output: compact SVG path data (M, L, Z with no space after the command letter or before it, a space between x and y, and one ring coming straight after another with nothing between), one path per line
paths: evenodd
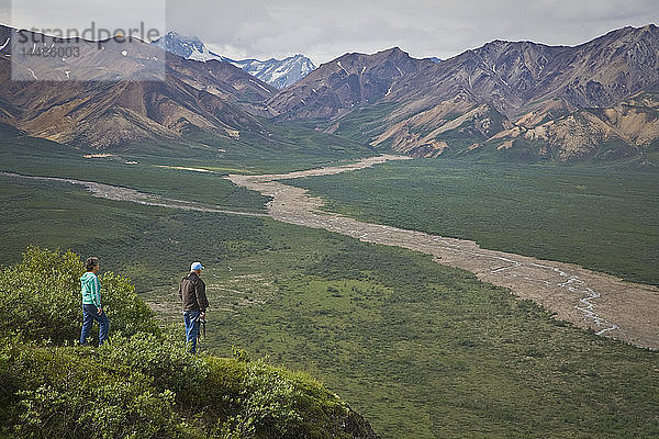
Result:
M0 365L0 437L349 438L355 417L308 375L150 334L100 349L7 340Z

